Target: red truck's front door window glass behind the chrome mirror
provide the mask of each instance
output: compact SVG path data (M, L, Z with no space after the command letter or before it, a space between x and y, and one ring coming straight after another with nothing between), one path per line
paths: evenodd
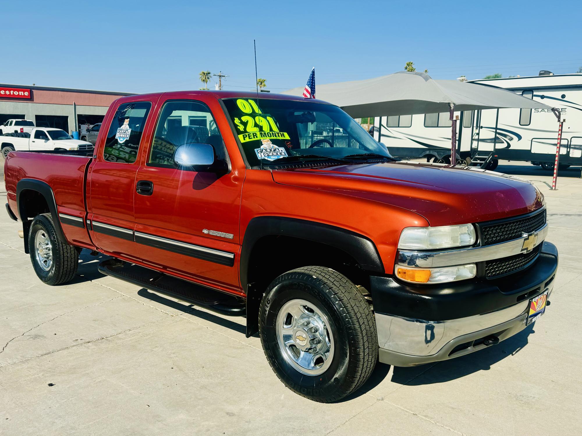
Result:
M224 142L208 106L190 100L166 102L155 127L148 165L175 167L176 149L193 143L210 144L218 160L226 159Z

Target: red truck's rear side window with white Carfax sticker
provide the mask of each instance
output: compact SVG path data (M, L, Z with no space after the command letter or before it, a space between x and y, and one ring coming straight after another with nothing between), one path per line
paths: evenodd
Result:
M109 162L136 162L141 134L151 103L124 103L115 111L103 148L103 158Z

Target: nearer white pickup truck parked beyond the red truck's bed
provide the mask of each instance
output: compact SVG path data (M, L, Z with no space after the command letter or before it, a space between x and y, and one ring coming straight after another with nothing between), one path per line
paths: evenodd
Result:
M90 150L91 142L74 140L60 128L35 127L30 133L5 133L0 135L0 149L6 159L11 151L49 151L49 150Z

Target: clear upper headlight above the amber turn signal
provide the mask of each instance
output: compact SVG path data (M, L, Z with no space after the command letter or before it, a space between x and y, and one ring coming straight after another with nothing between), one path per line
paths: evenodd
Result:
M400 234L399 249L431 250L473 245L475 228L473 224L441 227L406 227Z

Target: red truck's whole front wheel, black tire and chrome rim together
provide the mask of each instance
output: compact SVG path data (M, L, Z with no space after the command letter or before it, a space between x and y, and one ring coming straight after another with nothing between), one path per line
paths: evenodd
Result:
M372 310L337 271L308 266L282 274L265 292L259 318L269 364L299 395L338 401L374 370L378 337Z

